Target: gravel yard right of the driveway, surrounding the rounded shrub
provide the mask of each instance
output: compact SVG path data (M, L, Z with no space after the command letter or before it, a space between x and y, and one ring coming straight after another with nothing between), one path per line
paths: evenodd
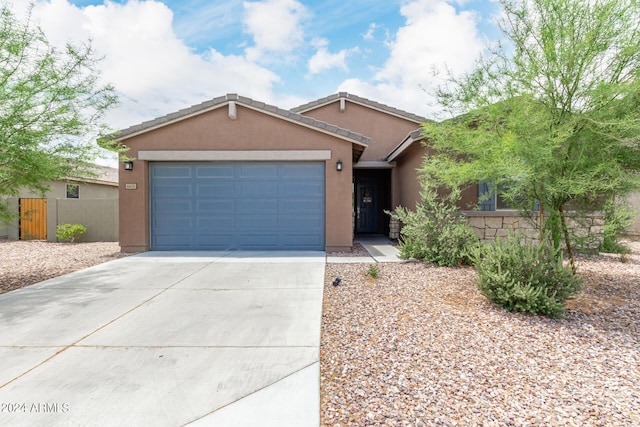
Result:
M564 319L509 313L472 268L328 264L323 426L640 425L640 245L580 258ZM340 286L331 285L336 276Z

